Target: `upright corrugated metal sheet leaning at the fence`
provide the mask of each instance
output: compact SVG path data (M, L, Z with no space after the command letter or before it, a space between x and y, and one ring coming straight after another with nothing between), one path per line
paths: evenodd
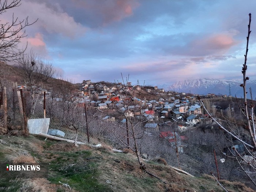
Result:
M38 135L39 133L47 134L50 124L50 118L36 118L27 121L27 127L30 134Z

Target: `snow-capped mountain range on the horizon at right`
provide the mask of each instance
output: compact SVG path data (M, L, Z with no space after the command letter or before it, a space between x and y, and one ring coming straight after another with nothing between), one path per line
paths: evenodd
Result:
M218 80L218 79L193 79L176 82L172 86L167 84L158 85L159 88L164 88L166 91L185 92L192 94L208 93L226 94L229 95L229 87L231 95L234 97L243 97L243 89L240 87L242 80ZM253 96L256 97L256 80L248 80L246 82L246 90L249 93L249 87L252 88ZM248 94L249 96L249 94Z

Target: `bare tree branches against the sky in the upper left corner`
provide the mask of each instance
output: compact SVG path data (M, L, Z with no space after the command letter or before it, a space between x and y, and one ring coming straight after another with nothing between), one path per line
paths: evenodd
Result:
M1 0L0 15L14 7L19 7L21 0ZM24 49L19 49L18 45L22 38L26 37L24 28L35 23L29 23L28 16L19 20L12 14L11 22L0 23L0 61L14 61L18 56L24 53Z

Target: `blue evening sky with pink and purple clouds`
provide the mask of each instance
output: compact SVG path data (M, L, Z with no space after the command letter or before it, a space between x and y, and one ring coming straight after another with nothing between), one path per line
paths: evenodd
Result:
M245 3L246 2L246 3ZM198 78L256 79L256 1L22 0L1 22L29 17L28 44L74 83L158 85Z

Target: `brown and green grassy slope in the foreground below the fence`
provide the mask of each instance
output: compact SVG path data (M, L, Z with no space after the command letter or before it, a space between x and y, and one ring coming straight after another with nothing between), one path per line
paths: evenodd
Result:
M109 147L99 150L87 146L46 140L38 136L0 136L0 162L47 162L49 176L31 180L0 178L0 191L107 191L107 192L222 192L210 176L193 178L177 173L169 166L147 162L147 171L167 184L140 170L133 154L112 153ZM68 187L59 183L68 184ZM231 191L250 191L240 183L221 181ZM253 190L251 190L253 191Z

